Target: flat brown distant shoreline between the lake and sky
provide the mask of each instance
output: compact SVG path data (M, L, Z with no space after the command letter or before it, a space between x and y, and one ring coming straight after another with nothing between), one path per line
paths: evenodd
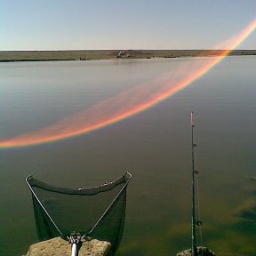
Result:
M226 54L227 50L0 51L0 62L214 57ZM228 53L228 56L243 55L256 55L256 50L233 50Z

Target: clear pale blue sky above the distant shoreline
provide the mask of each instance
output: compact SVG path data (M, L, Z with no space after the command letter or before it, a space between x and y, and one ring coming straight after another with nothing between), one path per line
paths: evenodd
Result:
M0 50L211 49L256 0L0 0ZM238 49L256 49L256 31Z

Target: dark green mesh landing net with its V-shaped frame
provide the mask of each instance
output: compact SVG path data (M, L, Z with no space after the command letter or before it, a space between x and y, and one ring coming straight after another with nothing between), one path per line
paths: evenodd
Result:
M78 189L53 187L28 177L39 240L80 234L108 241L109 255L113 255L123 235L126 188L131 177L126 172L108 184Z

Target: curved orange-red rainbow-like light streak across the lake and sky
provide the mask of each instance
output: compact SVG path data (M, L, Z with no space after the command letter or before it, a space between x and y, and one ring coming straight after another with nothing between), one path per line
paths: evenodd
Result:
M104 126L115 124L127 117L152 108L157 103L169 98L174 93L184 89L200 76L223 60L229 52L249 36L256 28L256 19L244 28L238 35L217 45L214 50L221 50L217 57L202 58L200 61L189 60L154 81L141 84L131 90L121 92L116 97L101 101L82 112L61 120L56 124L28 132L19 136L1 140L0 148L26 147L56 140L63 140L86 132L98 130Z

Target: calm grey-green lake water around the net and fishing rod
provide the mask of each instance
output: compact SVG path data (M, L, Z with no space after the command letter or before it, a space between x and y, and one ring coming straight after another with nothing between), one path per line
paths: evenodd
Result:
M0 136L54 124L182 61L192 59L1 63ZM203 244L217 255L255 255L255 70L253 56L228 57L187 88L122 122L68 140L0 149L0 254L21 255L37 241L24 180L29 174L78 188L127 171L133 178L117 254L165 256L188 249L193 110Z

